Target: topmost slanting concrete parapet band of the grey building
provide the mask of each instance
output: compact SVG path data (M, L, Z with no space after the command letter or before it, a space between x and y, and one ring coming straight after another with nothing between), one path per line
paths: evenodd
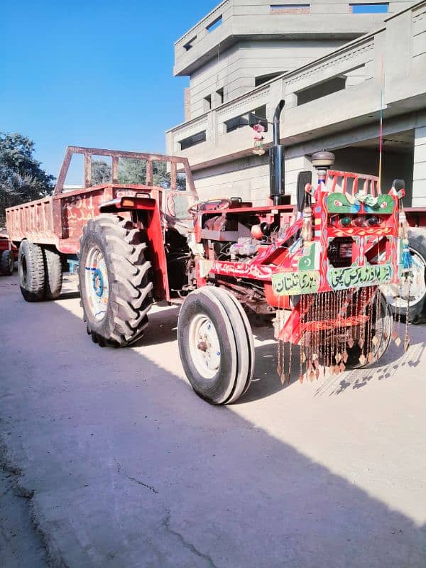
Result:
M351 40L377 28L410 0L224 0L175 42L174 75L190 75L242 39ZM367 6L364 8L364 6ZM373 6L373 8L371 8ZM374 12L373 10L378 10Z

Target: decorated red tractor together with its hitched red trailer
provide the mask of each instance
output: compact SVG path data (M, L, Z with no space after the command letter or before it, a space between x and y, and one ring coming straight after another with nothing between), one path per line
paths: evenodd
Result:
M200 201L185 158L68 148L53 196L6 212L11 239L20 244L23 297L58 297L67 259L79 273L87 332L100 346L136 342L153 302L180 304L185 373L214 404L232 403L249 388L255 351L247 314L271 320L281 378L292 356L301 381L318 378L322 368L340 373L380 359L391 337L399 338L378 287L410 283L403 182L383 195L376 177L332 170L334 156L320 152L312 155L317 187L310 172L300 173L297 207L290 205L282 107L263 207L238 197ZM85 187L66 192L73 154L84 155ZM111 180L93 185L92 155L111 157ZM146 180L120 178L121 160L140 160ZM155 164L164 162L170 188L155 182ZM178 189L178 169L186 190Z

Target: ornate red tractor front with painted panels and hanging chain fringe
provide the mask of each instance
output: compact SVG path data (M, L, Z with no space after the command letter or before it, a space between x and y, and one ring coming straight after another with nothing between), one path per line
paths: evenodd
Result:
M300 382L304 377L319 378L321 368L323 373L329 368L339 374L346 366L372 364L391 339L399 345L380 287L407 288L411 281L401 182L395 180L388 195L381 195L375 176L325 170L324 165L334 160L330 153L313 155L312 161L315 158L320 161L319 185L313 195L310 183L302 188L300 240L283 270L271 278L276 296L298 296L290 317L284 323L283 312L278 312L275 326L282 381L286 368L290 378L292 353L290 349L286 366L284 342L300 344ZM403 293L410 297L409 290L400 290ZM408 310L409 302L405 350ZM401 310L395 315L399 323Z

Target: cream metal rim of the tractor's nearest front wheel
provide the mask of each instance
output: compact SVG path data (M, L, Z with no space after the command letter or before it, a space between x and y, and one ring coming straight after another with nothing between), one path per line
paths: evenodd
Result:
M190 354L197 371L204 378L213 378L220 366L219 337L212 320L198 314L190 323Z

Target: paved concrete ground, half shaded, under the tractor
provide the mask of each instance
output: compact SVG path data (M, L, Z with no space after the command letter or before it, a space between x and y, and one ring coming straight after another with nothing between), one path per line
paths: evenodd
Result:
M100 349L80 315L0 279L4 460L50 564L425 567L426 327L384 366L286 388L255 328L256 381L215 408L183 377L175 308L132 349ZM1 566L43 566L10 541Z

